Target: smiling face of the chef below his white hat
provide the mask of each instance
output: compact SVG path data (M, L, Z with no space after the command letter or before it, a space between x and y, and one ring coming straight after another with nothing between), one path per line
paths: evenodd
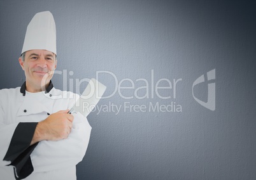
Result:
M39 89L50 82L57 66L55 54L46 50L30 50L25 52L24 61L18 59L25 72L26 86Z

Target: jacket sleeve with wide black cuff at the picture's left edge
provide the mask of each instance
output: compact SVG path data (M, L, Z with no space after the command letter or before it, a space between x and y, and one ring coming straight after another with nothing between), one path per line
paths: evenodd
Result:
M1 165L13 165L16 179L32 173L31 153L37 144L30 146L36 122L4 123L3 107L0 107L0 157Z

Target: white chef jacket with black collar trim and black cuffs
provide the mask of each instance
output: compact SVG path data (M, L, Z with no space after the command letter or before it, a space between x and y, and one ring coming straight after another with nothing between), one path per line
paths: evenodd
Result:
M91 131L81 113L73 114L73 128L67 139L29 146L37 122L59 110L70 109L78 98L50 84L40 93L26 92L25 82L22 87L0 90L0 179L11 180L18 175L10 163L22 164L24 169L32 166L32 173L25 179L76 179L76 164L85 155Z

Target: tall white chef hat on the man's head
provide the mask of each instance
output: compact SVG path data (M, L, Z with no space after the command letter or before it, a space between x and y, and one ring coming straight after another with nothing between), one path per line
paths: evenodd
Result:
M22 53L32 49L45 49L57 55L56 27L50 11L36 13L27 25Z

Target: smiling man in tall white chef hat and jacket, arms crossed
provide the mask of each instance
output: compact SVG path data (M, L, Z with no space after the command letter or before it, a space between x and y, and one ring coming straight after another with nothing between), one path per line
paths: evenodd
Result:
M18 59L26 80L0 90L0 179L76 179L91 127L68 113L78 97L53 87L56 56L52 13L37 13Z

